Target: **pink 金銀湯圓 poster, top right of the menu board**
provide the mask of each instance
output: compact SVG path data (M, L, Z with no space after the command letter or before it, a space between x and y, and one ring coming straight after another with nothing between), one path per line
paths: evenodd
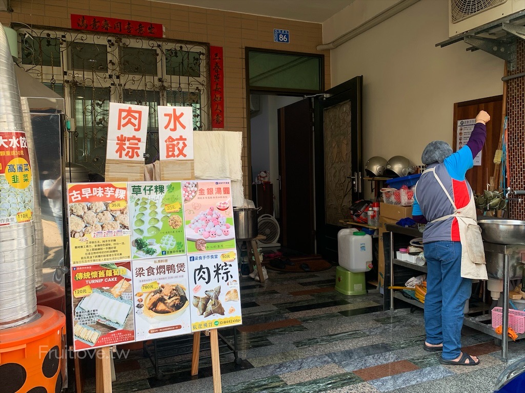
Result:
M187 252L235 249L229 180L184 181L182 195Z

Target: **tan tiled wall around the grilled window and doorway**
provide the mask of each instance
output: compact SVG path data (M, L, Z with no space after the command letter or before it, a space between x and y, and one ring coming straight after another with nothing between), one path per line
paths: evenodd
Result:
M245 47L320 53L322 26L213 9L146 0L12 0L14 13L0 13L0 22L71 27L70 14L130 18L165 27L166 38L209 42L224 50L225 129L243 132L243 173L248 194L248 140ZM290 43L274 42L274 29L290 30ZM325 88L330 87L330 51L324 54Z

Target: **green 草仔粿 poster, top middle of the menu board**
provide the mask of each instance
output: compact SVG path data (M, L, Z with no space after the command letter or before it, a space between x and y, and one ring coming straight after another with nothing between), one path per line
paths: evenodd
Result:
M186 254L180 182L129 182L133 259Z

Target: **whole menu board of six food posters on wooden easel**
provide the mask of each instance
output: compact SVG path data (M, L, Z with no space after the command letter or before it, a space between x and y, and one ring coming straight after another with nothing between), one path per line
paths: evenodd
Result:
M74 350L242 323L229 180L68 184Z

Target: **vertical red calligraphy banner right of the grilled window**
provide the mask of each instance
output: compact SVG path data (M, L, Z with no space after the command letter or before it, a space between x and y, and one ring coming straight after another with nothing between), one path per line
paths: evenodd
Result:
M209 47L212 79L212 128L224 128L223 48Z

